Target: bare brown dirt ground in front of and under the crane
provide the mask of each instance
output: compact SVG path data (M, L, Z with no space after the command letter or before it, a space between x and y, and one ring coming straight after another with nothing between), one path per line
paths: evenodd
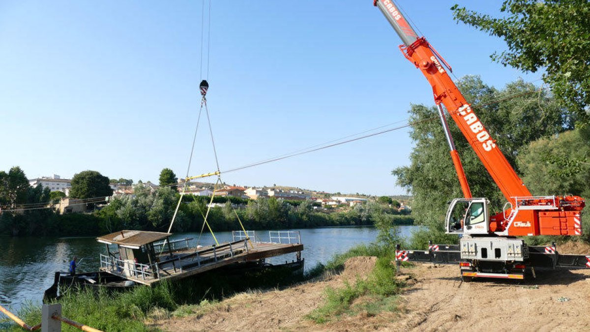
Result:
M461 282L458 266L417 264L402 269L409 285L395 313L360 314L329 324L304 318L323 303L326 287L366 276L373 266L375 258L351 258L342 274L281 290L239 294L207 313L159 320L153 326L169 331L590 330L590 269L537 271L537 278L526 282Z

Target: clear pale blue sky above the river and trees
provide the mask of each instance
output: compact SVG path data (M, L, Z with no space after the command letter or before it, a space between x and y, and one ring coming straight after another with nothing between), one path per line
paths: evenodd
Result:
M222 171L402 121L411 103L433 105L372 0L212 2L208 77L201 1L0 2L0 170L157 183L169 167L184 177L203 78ZM503 41L456 24L449 9L497 14L500 2L399 2L457 77L496 87L539 78L492 63ZM191 175L215 171L206 129ZM222 179L404 194L391 170L410 152L403 129Z

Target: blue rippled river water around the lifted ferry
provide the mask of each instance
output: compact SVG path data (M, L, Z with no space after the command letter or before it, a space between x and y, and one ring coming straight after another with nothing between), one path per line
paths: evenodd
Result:
M417 226L399 226L402 236L409 236ZM375 241L373 227L325 227L297 230L301 236L306 270L326 263L335 253L352 246ZM216 232L219 243L232 239L231 232ZM256 231L258 239L268 241L267 231ZM195 246L199 233L175 233L171 240L192 237ZM203 234L199 244L212 245L211 234ZM106 253L94 237L0 237L0 305L17 310L25 301L40 303L45 289L53 284L55 271L67 271L68 263L77 256L78 272L96 271L99 253ZM281 263L294 259L294 254L267 259Z

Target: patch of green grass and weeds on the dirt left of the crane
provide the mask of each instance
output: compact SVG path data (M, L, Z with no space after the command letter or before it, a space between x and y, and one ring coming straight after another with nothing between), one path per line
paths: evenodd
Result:
M395 279L395 266L391 264L394 251L388 246L360 245L348 252L336 255L326 264L327 270L342 269L346 259L355 256L377 256L375 269L366 279L356 279L353 284L345 282L342 288L327 288L326 300L307 318L318 324L336 320L342 315L357 315L365 312L376 315L382 311L395 311L397 294L403 286ZM355 300L362 298L360 303Z

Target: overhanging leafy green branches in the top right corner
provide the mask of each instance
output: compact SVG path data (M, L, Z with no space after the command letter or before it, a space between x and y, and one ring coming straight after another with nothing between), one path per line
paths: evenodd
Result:
M588 0L504 0L503 18L451 7L454 18L503 38L507 51L491 58L504 66L535 72L553 93L590 122L590 2Z

